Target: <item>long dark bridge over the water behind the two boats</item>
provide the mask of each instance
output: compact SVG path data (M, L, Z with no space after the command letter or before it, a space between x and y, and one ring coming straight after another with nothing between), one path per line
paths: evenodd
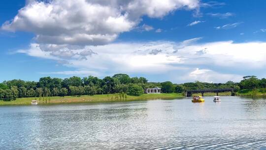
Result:
M204 96L204 93L216 93L218 96L219 92L231 92L233 96L233 88L187 90L185 95L186 97L191 97L193 93L201 93L201 96Z

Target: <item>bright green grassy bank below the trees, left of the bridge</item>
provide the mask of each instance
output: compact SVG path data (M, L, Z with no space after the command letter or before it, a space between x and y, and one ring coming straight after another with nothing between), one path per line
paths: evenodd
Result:
M153 100L153 99L174 99L183 97L180 93L161 93L161 94L142 94L140 96L130 96L124 99L119 94L106 95L82 95L82 96L65 96L65 97L46 97L36 98L39 104L59 104L59 103L93 103L93 102L117 102L117 101L136 101L136 100ZM14 101L0 101L0 105L31 105L34 98L18 98Z

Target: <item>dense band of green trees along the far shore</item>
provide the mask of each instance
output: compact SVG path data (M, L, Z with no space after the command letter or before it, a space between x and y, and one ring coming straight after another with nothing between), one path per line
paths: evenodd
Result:
M234 88L236 91L243 89L266 88L266 79L256 76L244 76L239 83L228 81L226 83L187 82L173 84L166 82L148 82L145 77L130 77L126 74L116 74L100 79L96 76L80 78L41 77L39 81L24 81L13 79L0 83L0 100L10 101L24 97L49 97L70 95L95 95L126 93L138 96L146 88L162 88L163 93L182 93L186 90Z

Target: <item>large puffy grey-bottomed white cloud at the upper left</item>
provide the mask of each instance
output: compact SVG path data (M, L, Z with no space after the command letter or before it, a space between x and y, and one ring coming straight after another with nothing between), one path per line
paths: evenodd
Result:
M161 18L197 7L199 0L30 0L1 29L32 32L38 43L102 45L131 31L143 15Z

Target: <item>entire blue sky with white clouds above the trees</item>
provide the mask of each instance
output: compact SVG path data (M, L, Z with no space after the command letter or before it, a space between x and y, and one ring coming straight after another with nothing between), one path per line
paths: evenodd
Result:
M0 81L265 77L265 0L1 0Z

